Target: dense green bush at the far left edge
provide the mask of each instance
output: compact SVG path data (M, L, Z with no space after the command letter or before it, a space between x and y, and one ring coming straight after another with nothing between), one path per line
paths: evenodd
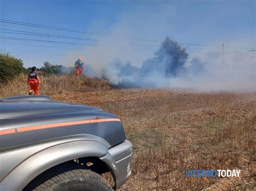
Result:
M0 53L0 83L5 83L24 72L21 59L14 58L8 53Z

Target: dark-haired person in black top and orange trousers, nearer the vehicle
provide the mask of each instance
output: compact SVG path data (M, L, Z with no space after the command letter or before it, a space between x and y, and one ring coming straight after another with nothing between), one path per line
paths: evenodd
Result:
M31 68L31 73L28 76L28 85L30 85L29 95L35 93L35 95L39 94L39 86L41 81L39 79L38 73L36 72L36 67Z

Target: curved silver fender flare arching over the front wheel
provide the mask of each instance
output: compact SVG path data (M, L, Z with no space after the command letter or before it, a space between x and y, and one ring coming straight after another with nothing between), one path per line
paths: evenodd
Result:
M54 145L23 160L0 183L0 190L22 190L47 169L82 157L101 157L108 148L95 140L76 140Z

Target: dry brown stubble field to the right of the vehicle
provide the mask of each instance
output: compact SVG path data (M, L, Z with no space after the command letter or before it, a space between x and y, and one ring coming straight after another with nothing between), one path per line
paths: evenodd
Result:
M253 189L256 93L114 89L51 95L116 114L133 144L120 190ZM239 178L187 178L185 169L241 169Z

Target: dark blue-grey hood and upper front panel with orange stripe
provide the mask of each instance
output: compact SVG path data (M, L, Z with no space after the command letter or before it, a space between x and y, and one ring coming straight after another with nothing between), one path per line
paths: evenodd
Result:
M99 108L54 102L46 96L0 99L0 150L76 135L97 136L110 146L125 140L118 117Z

